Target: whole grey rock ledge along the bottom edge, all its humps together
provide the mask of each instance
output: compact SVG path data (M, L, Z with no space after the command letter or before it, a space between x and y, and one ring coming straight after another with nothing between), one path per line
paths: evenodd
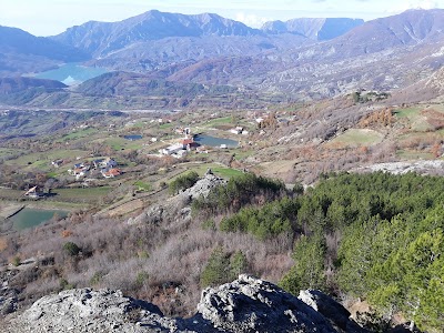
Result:
M325 294L309 290L300 297L240 275L205 289L193 317L173 319L121 291L78 289L38 300L2 332L366 332Z

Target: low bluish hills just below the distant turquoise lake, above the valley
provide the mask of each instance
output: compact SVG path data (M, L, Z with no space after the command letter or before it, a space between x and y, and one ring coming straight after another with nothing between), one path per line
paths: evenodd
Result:
M42 109L259 109L287 101L234 85L184 83L129 72L110 72L77 87L59 81L18 78L0 80L0 104Z

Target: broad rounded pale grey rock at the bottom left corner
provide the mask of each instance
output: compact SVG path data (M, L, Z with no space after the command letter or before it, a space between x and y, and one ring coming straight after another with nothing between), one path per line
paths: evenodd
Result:
M141 319L150 320L150 329ZM121 291L68 290L38 300L7 332L169 332L174 320Z

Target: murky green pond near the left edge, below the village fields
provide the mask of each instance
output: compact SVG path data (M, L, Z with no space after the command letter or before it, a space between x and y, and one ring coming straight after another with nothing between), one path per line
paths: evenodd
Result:
M68 216L68 212L58 210L39 210L24 208L16 215L11 216L13 230L21 231L28 228L34 228L43 222L51 220L54 214L59 218Z

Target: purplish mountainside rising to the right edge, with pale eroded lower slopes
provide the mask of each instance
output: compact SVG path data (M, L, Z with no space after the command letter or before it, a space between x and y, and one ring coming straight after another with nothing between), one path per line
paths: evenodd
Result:
M330 41L253 57L248 68L233 59L219 60L218 67L230 68L229 75L221 74L228 78L224 83L249 82L262 91L286 91L301 99L359 88L393 90L428 77L444 63L443 26L444 10L407 11L366 22ZM241 67L232 67L236 62ZM201 70L182 69L180 79L214 82L213 67Z

